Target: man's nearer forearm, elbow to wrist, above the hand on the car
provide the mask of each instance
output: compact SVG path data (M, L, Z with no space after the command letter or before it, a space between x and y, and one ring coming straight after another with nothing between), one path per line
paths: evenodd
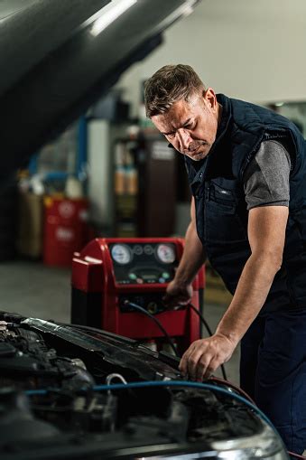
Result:
M216 333L221 333L234 343L246 333L259 314L280 264L265 256L251 256L241 274L236 293L223 315Z

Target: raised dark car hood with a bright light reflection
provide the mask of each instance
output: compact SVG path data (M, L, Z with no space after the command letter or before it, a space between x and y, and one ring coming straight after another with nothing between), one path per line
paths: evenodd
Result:
M0 180L152 52L197 2L0 2Z

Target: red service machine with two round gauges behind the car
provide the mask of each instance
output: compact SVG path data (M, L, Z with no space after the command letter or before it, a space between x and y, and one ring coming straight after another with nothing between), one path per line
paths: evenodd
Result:
M162 303L183 251L184 239L94 239L72 261L71 323L102 328L167 350L153 315L180 353L200 337L191 308L167 310ZM191 303L202 313L204 268L193 282Z

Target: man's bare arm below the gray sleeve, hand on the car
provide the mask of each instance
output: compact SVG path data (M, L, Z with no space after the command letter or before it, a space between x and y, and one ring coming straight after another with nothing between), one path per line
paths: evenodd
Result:
M237 343L260 312L276 272L281 268L288 208L263 206L249 211L248 239L252 254L246 261L236 293L216 333L191 343L180 370L202 380L234 352Z

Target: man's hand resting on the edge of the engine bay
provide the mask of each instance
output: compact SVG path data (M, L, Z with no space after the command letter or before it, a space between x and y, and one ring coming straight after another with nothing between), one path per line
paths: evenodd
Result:
M192 380L209 378L212 372L229 360L236 344L221 333L215 333L208 339L196 340L181 358L181 373Z

